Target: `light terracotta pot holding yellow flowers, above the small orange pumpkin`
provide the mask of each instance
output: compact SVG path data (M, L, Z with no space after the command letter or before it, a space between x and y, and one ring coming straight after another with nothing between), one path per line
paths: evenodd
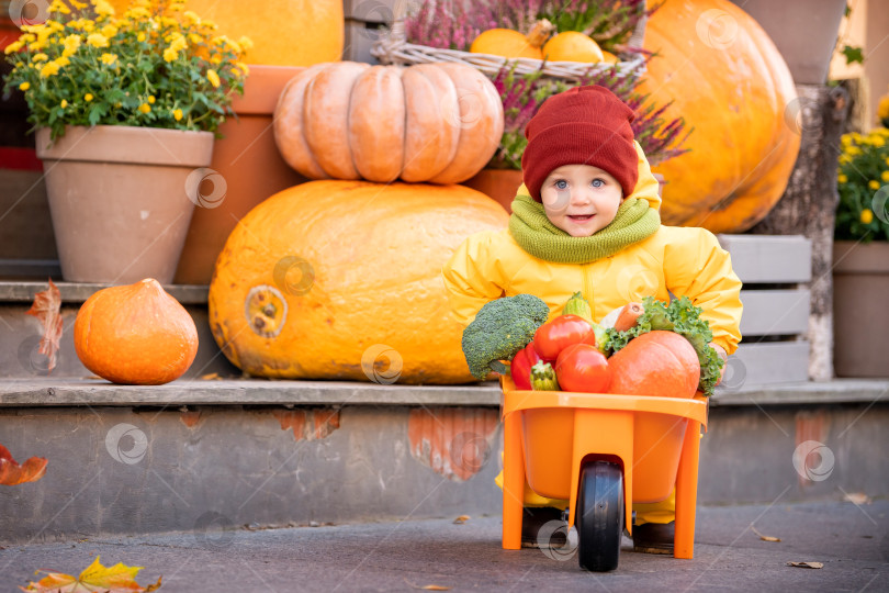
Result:
M194 203L189 175L210 165L213 134L68 126L36 135L61 276L70 282L172 282Z

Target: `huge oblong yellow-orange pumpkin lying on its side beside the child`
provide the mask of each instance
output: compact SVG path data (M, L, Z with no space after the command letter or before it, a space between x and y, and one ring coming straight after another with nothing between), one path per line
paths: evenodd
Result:
M295 186L228 237L210 284L211 329L252 376L473 381L441 267L466 236L507 221L462 186Z

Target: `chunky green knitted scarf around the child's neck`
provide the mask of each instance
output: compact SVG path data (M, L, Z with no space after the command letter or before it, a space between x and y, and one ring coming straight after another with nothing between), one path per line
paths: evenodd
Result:
M629 198L620 204L615 220L589 237L572 237L550 222L543 204L530 195L516 195L509 234L532 256L556 264L589 264L653 235L661 215L648 200Z

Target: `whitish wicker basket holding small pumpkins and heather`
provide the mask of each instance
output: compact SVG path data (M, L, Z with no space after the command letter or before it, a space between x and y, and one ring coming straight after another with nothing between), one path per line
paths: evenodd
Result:
M628 45L641 47L645 35L645 18L639 20ZM584 77L604 72L616 68L618 76L642 74L645 69L645 57L642 54L624 54L626 58L617 64L584 64L579 61L547 61L533 58L505 58L491 54L473 54L459 49L442 49L427 45L415 45L405 41L404 21L393 23L392 29L384 31L373 44L371 55L380 64L394 64L406 66L412 64L429 64L432 61L455 61L477 68L491 78L494 78L504 66L514 66L518 75L532 74L541 69L543 76L560 79L566 82L578 82Z

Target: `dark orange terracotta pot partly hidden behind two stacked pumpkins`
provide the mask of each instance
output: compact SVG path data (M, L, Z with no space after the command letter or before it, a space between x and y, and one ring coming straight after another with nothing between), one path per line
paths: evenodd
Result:
M220 126L223 138L199 187L196 203L176 272L177 284L209 284L228 235L255 205L304 177L281 158L272 134L272 114L281 90L302 67L250 66L244 96L232 109L238 118Z

